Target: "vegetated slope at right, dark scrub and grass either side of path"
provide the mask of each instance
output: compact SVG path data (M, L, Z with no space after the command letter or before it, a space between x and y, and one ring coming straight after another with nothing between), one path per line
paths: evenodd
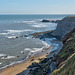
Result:
M64 46L57 55L57 67L51 75L75 75L75 29L63 39Z

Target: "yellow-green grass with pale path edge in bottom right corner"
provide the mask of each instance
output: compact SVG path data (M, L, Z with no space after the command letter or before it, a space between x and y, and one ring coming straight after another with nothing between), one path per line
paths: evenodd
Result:
M62 68L55 70L51 75L75 75L75 54Z

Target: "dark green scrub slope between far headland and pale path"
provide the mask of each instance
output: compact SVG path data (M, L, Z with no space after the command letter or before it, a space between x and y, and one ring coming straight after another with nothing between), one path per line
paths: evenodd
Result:
M75 52L75 29L68 33L62 41L64 46L60 53L58 53L58 57L67 58Z

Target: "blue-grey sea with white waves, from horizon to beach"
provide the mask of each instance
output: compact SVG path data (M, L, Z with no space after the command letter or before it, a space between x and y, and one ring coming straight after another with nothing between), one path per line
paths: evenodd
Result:
M69 15L0 15L0 69L21 63L30 54L38 53L51 46L53 43L28 35L55 30L56 23L41 21L43 19L61 20L66 16ZM55 50L57 44L54 44L53 48Z

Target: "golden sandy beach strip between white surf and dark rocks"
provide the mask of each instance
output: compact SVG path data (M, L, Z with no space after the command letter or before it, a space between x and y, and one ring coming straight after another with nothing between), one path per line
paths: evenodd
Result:
M44 32L41 32L41 33L43 34ZM8 67L0 70L0 75L16 75L16 74L21 73L22 71L26 70L27 67L30 66L33 62L39 63L39 61L40 61L39 58L47 58L47 56L52 57L54 54L58 53L58 50L54 50L51 52L51 49L52 48L49 47L45 50L42 50L41 52L39 52L37 54L34 54L32 57L27 58L26 60L24 60L21 63L16 63L16 64L13 64L11 66L8 66ZM34 60L31 61L33 59L33 57L34 57Z

